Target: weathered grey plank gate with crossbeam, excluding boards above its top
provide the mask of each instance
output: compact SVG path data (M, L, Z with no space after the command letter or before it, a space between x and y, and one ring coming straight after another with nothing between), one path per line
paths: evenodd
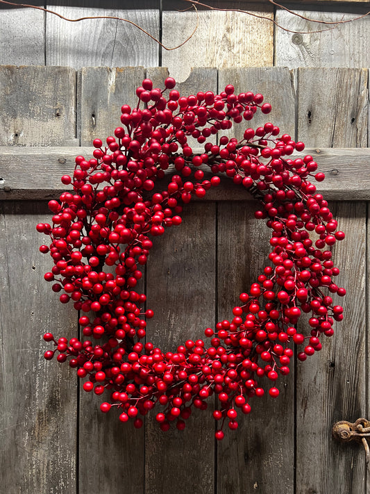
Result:
M237 433L217 444L211 411L194 413L184 432L167 433L149 414L137 431L112 412L103 415L74 371L42 357L44 331L78 331L72 308L43 279L51 261L38 252L44 239L35 224L50 219L45 199L58 196L59 177L72 170L76 154L89 156L93 138L112 133L142 79L160 85L166 75L160 67L0 67L3 492L364 493L363 451L335 443L331 427L369 416L370 156L355 149L367 147L367 69L194 69L179 85L183 94L226 83L262 92L273 105L269 119L322 161L328 181L321 190L347 234L335 247L348 288L345 320L319 354L295 363L278 400L253 400ZM145 280L155 310L149 340L171 349L230 315L267 262L269 232L254 220L254 207L225 181L157 242Z

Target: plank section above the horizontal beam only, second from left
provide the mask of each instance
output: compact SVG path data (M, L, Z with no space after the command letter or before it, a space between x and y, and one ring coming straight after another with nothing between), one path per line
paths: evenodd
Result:
M137 105L136 88L145 78L144 67L85 67L81 70L81 144L91 146L121 126L121 106Z

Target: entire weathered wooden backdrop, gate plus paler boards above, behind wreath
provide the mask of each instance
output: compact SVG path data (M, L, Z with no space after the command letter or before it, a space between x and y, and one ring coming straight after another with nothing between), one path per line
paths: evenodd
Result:
M337 420L369 418L370 129L368 70L362 67L370 66L370 18L319 34L312 31L323 26L267 1L212 0L217 8L267 19L201 6L197 15L179 12L188 6L180 0L34 4L65 17L124 17L167 47L199 26L187 44L167 51L125 22L71 24L40 10L0 5L0 63L11 65L0 67L0 491L370 492L361 447L331 437ZM303 17L329 22L369 10L362 0L286 4ZM183 94L221 90L226 83L262 92L273 105L268 118L303 140L325 170L320 190L347 234L335 247L339 283L348 289L341 300L344 322L321 352L294 363L278 400L253 400L251 415L221 443L214 441L212 402L210 412L194 413L182 433L160 432L153 415L137 431L112 412L103 415L99 399L80 390L73 370L42 357L44 331L72 337L78 324L43 279L51 262L38 251L44 238L35 224L50 220L47 200L62 190L60 176L73 169L77 154L91 155L95 137L112 133L121 104L133 104L142 79L151 77L155 85L165 79L161 65L181 81ZM253 126L262 120L256 117ZM269 232L254 220L254 208L247 193L225 181L188 206L182 226L158 240L143 281L155 310L148 329L153 343L171 349L230 315L237 295L267 262Z

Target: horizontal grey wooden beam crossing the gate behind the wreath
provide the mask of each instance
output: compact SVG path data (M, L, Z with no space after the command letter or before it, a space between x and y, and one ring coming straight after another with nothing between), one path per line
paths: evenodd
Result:
M336 201L370 200L370 148L305 149L319 163L326 180L317 190ZM91 147L0 147L0 199L54 199L67 187L60 182L72 174L74 158L92 156ZM205 171L208 170L205 167ZM160 186L158 186L160 188ZM227 177L210 190L208 201L251 199L246 190Z

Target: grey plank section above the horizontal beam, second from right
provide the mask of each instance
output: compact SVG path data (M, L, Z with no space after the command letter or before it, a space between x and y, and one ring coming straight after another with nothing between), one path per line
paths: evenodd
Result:
M271 113L264 115L260 110L255 113L251 122L235 125L228 135L243 138L246 128L256 129L265 122L273 122L283 133L294 136L294 74L283 67L250 67L241 69L220 69L219 90L227 84L233 84L235 93L251 91L264 96L264 101L272 106Z

